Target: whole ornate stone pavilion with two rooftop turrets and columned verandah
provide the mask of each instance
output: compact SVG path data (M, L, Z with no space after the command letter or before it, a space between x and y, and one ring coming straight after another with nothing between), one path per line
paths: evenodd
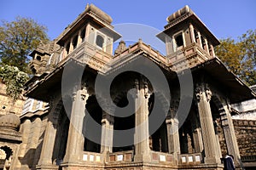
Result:
M188 6L167 22L157 35L166 56L142 40L129 47L121 41L113 53L121 35L93 4L35 49L26 96L49 109L21 116L31 139L24 135L11 168L223 169L224 152L241 167L230 104L253 99L253 92L215 56L218 39ZM149 63L166 86L137 71L154 71ZM156 71L151 76L160 78ZM185 76L190 81L182 85ZM114 78L99 85L98 77ZM118 109L127 105L132 114Z

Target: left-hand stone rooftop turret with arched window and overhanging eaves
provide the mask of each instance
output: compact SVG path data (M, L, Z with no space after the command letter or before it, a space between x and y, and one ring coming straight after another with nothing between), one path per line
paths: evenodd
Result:
M59 60L71 54L81 43L96 47L97 50L107 54L113 54L113 42L119 39L120 35L113 31L111 23L112 18L108 14L93 4L87 5L84 13L66 28L57 42L64 48Z

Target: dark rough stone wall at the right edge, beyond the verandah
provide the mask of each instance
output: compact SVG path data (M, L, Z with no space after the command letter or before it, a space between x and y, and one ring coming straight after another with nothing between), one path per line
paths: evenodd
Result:
M241 156L256 156L256 121L233 120Z

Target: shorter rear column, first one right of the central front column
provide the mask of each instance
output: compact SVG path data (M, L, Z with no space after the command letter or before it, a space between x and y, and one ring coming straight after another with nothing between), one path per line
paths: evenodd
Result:
M167 135L168 135L168 148L169 153L173 154L174 161L178 162L178 156L180 155L180 143L178 134L178 120L177 118L166 119Z

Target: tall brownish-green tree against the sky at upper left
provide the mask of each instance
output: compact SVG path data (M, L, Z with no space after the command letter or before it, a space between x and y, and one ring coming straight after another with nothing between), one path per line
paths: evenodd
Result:
M15 21L2 21L0 26L0 64L12 65L29 72L29 54L40 42L47 42L47 28L31 18L18 16Z

